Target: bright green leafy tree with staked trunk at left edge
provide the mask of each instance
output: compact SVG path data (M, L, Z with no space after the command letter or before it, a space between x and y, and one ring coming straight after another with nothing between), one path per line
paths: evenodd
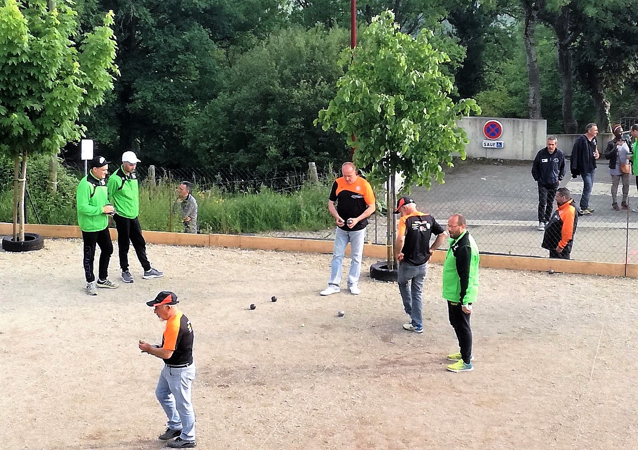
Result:
M0 153L14 160L14 240L24 241L27 156L57 154L77 141L78 116L103 101L117 73L113 13L78 36L70 4L4 0L0 7Z

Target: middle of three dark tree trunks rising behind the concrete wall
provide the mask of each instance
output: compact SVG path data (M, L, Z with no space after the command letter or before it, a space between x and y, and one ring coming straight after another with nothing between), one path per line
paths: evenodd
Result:
M574 99L574 79L572 63L572 38L570 36L570 25L572 13L569 6L561 8L558 19L554 22L554 33L558 40L556 50L558 52L558 71L561 75L561 86L563 90L563 132L567 134L578 133L578 122L574 117L572 109Z

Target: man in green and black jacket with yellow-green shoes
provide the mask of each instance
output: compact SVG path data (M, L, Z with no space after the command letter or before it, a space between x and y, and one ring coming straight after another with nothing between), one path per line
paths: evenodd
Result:
M443 263L443 298L447 300L450 324L459 340L460 352L447 356L456 361L447 366L452 372L474 370L470 315L479 294L479 248L465 229L465 218L452 214L447 221L449 248Z

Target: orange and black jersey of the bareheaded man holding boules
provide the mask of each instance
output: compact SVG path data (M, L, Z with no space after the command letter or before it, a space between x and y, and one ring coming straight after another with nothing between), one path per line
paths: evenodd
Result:
M366 228L367 218L352 228L348 228L347 221L353 217L359 217L366 211L368 205L376 203L375 193L373 193L370 183L360 176L352 184L346 183L344 177L336 179L332 183L329 200L336 203L339 217L346 221L343 227L339 227L344 231L357 231Z

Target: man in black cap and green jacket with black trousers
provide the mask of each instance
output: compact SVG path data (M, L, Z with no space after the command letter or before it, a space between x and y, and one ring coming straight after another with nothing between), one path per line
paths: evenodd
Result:
M113 243L108 233L108 214L113 214L113 206L108 204L107 183L108 161L101 156L91 160L89 174L80 180L75 191L78 210L78 224L82 230L84 242L84 275L86 277L86 293L98 295L98 287L115 289L117 285L108 280L108 261L113 253ZM93 273L95 246L100 246L100 265L98 280Z

